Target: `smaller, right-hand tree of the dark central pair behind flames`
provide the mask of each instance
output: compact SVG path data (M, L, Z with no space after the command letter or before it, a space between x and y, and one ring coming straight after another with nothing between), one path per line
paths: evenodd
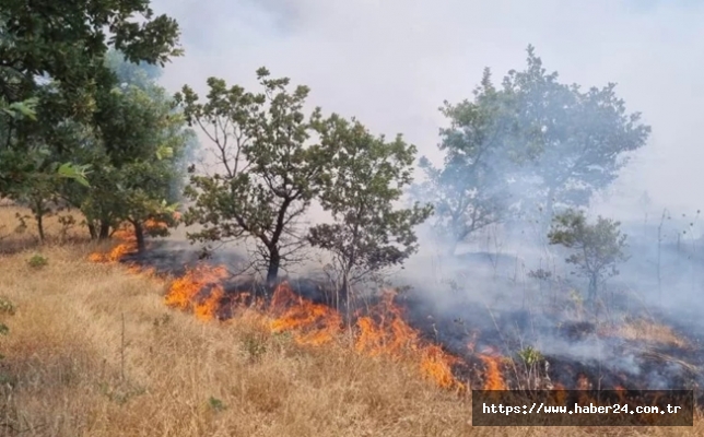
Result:
M418 250L413 226L425 221L430 205L395 209L412 181L415 146L398 135L387 142L359 121L332 117L320 129L322 143L337 150L320 194L335 223L309 229L312 246L329 250L341 273L340 293L382 269L401 264Z

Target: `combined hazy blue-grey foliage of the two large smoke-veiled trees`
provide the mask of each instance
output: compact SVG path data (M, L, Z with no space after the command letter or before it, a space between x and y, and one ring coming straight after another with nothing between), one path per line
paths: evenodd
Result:
M471 102L445 104L444 167L421 161L427 181L415 198L433 203L450 252L504 220L538 222L544 236L555 205L587 205L649 137L614 84L583 91L560 83L531 46L527 51L526 68L511 70L500 87L485 69Z

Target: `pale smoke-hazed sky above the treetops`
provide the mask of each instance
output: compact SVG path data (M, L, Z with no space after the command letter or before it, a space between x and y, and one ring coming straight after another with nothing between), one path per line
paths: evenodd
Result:
M549 71L583 87L615 82L653 127L601 208L647 192L657 208L704 209L704 1L156 0L181 26L171 91L209 76L255 86L257 68L310 86L310 106L356 117L439 160L437 110L471 97L484 67L500 82L533 45Z

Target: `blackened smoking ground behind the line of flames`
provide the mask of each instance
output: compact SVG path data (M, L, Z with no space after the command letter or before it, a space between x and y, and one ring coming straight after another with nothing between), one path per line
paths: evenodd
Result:
M242 261L226 255L233 263ZM122 262L153 268L159 273L183 275L187 268L203 260L197 248L188 244L153 241L146 255L128 255ZM330 293L319 281L290 282L294 292L309 300L331 304ZM232 308L243 303L242 293L270 297L271 290L253 281L231 281L224 284L226 295L220 317L232 317ZM254 293L253 293L254 292ZM208 291L203 291L208 293ZM429 298L431 296L431 298ZM418 329L429 342L437 343L461 358L455 366L458 379L469 380L472 389L481 389L485 363L480 354L501 354L513 358L502 361L503 377L508 389L532 387L544 389L561 385L565 389L681 390L693 389L704 405L704 335L689 335L690 321L680 318L672 322L667 314L656 315L658 322L671 326L688 345L653 344L606 336L599 333L599 322L565 317L560 310L528 311L523 308L490 309L477 302L438 306L432 294L422 291L401 293L396 303L403 309L407 322ZM367 302L366 305L373 305ZM696 318L692 314L692 318ZM701 322L700 322L701 323ZM704 324L704 323L702 323ZM701 331L704 332L704 329ZM518 352L527 346L540 352L540 358L527 365ZM548 363L548 366L545 366ZM528 382L528 379L537 382Z

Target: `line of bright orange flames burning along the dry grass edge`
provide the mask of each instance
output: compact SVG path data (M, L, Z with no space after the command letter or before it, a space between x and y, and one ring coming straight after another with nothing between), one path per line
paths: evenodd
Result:
M159 223L150 225L157 226ZM114 237L120 241L117 246L107 253L92 253L89 260L115 263L137 249L134 235L126 228L118 229ZM129 270L133 273L143 271L136 264ZM164 303L173 308L192 311L200 320L213 320L222 308L225 297L223 281L226 276L224 267L200 264L187 269L183 276L171 282ZM245 293L242 295L238 297L246 297ZM421 374L437 386L466 390L466 386L453 375L453 365L460 362L460 358L448 354L439 345L424 342L420 332L404 321L401 309L394 303L395 296L392 292L385 293L369 314L357 317L355 351L394 359L412 356L418 359ZM245 300L247 299L242 299ZM296 295L288 283L282 283L274 290L271 303L263 308L263 312L270 319L271 332L291 332L301 345L328 344L344 332L339 311Z

